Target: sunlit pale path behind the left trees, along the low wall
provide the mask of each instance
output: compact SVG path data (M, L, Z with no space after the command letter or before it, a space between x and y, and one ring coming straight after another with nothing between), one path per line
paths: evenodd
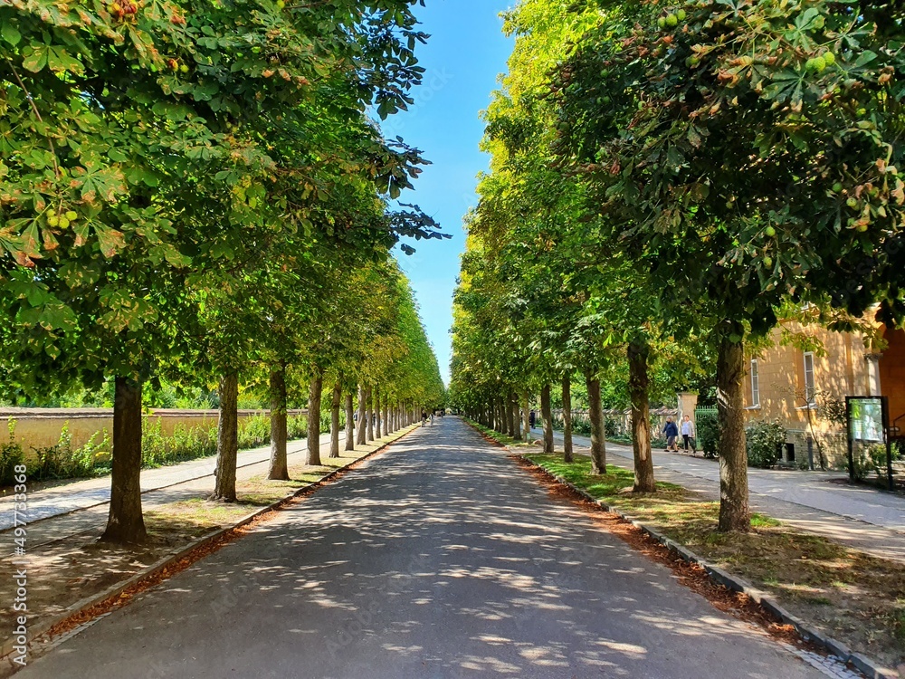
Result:
M345 441L345 433L339 433L339 440ZM329 443L330 435L320 436L320 445ZM307 449L304 439L291 441L287 446L287 454L298 453ZM270 445L243 451L238 455L238 469L261 464L271 459ZM171 464L156 469L144 469L141 472L141 492L150 493L167 488L176 483L186 483L204 479L214 475L216 457L203 457L180 464ZM12 494L0 498L0 531L13 527ZM110 476L99 476L95 479L73 481L63 485L54 485L42 490L34 490L28 496L28 521L34 523L52 516L60 516L76 510L88 509L100 504L110 503ZM106 510L104 510L106 512Z

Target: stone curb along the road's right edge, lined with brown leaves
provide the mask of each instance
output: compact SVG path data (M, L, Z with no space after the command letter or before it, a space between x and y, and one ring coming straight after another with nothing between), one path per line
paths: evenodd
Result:
M852 653L849 647L845 646L841 641L838 641L831 636L825 636L824 634L818 632L813 627L809 626L805 622L805 620L793 615L784 607L781 607L775 599L769 597L765 592L755 588L747 580L730 575L725 570L720 569L715 564L710 563L710 561L708 561L707 559L701 558L693 551L689 550L687 547L684 547L677 542L670 540L658 531L654 531L649 526L644 525L642 522L634 520L625 512L622 512L612 505L607 504L603 500L598 500L592 497L590 493L586 493L586 491L584 491L583 489L577 488L574 483L569 483L563 477L549 473L546 469L544 469L544 467L540 466L539 464L535 464L524 454L514 452L508 445L502 445L502 447L509 451L510 454L518 455L522 461L531 465L535 469L539 469L542 472L547 473L548 476L556 480L558 483L566 485L569 489L585 498L586 500L594 502L605 512L611 512L621 520L631 523L634 527L651 536L653 540L660 542L668 550L672 551L675 554L678 554L682 560L689 563L699 564L701 567L703 567L703 569L705 569L705 571L707 571L710 579L714 580L725 588L740 592L748 596L748 598L751 598L760 607L763 607L765 610L767 610L767 612L782 621L784 624L795 627L795 632L805 641L810 641L815 646L820 646L828 654L833 655L835 658L838 658L839 661L843 664L853 665L853 667L864 674L868 679L901 679L901 675L896 670L891 670L883 667L865 655Z

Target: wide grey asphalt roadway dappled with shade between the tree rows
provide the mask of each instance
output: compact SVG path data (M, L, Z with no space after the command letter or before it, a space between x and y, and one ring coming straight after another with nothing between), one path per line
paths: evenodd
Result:
M445 417L16 676L824 674Z

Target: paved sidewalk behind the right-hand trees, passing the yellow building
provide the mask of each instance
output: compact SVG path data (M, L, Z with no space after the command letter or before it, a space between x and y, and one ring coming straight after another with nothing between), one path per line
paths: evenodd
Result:
M531 434L542 438L543 430L532 429ZM562 443L561 432L554 438ZM589 438L573 435L572 440L577 454L588 454ZM607 442L606 464L633 469L632 448ZM654 450L653 468L659 481L719 501L716 460ZM836 472L748 468L751 509L853 549L905 562L905 498L848 485L847 479Z

